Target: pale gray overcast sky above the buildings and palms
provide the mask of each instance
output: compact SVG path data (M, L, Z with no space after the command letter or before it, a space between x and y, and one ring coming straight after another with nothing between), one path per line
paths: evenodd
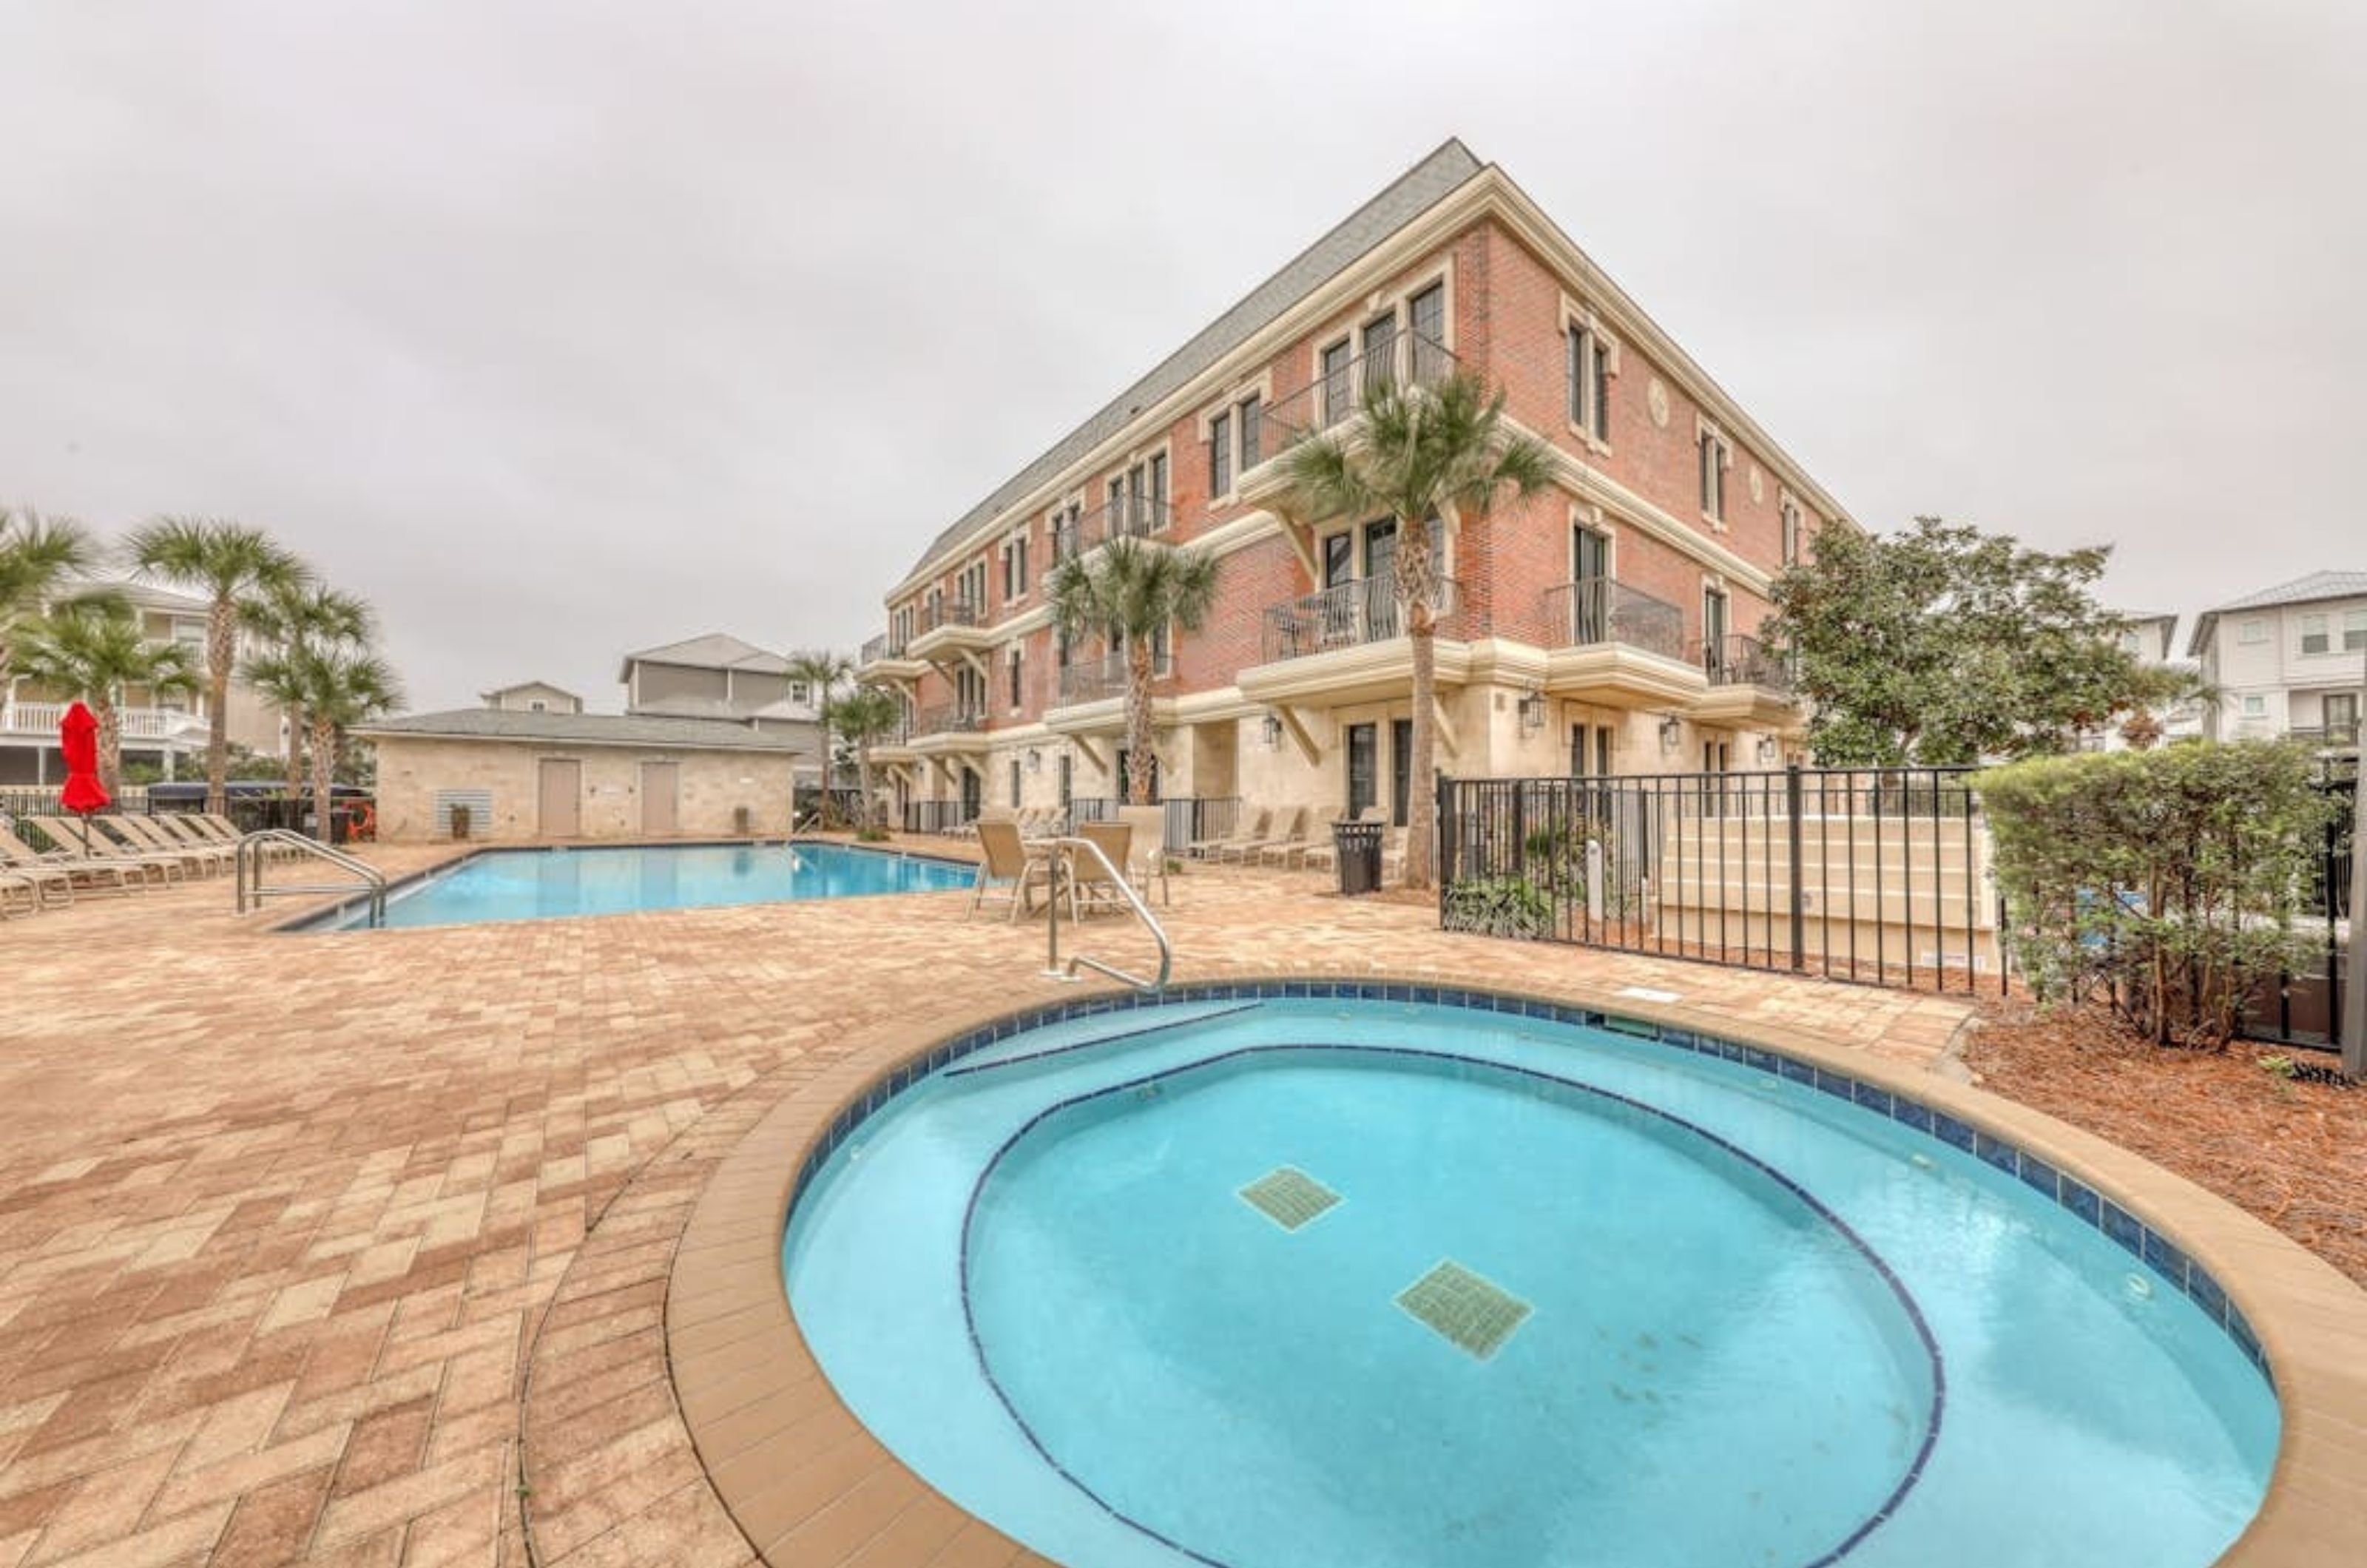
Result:
M852 649L1446 135L1868 526L2367 568L2358 0L0 0L0 502L263 523L417 708Z

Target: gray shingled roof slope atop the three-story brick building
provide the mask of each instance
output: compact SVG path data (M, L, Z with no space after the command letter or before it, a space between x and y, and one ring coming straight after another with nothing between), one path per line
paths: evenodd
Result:
M1290 310L1290 306L1299 303L1326 282L1356 265L1356 261L1375 251L1389 234L1437 206L1449 192L1479 171L1479 159L1475 159L1463 142L1449 137L1437 152L1399 175L1385 192L1349 213L1347 223L1299 251L1290 265L1250 289L1238 306L1219 315L1188 343L1160 360L1150 374L1117 393L1117 398L1112 398L1098 415L1072 429L1068 436L1056 441L1051 450L1006 478L994 495L963 512L961 521L940 533L904 576L909 578L949 554L973 528L987 523L1037 486L1049 483L1053 474L1124 429L1127 419L1134 419L1160 398L1176 393L1210 365L1247 343L1262 327Z

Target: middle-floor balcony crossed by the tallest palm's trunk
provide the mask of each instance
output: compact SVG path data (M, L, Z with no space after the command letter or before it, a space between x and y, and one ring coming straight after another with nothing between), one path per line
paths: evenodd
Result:
M1356 578L1266 611L1259 663L1240 673L1240 694L1257 701L1363 701L1404 696L1413 682L1413 649L1394 578ZM1439 580L1437 673L1463 685L1470 673L1463 585Z

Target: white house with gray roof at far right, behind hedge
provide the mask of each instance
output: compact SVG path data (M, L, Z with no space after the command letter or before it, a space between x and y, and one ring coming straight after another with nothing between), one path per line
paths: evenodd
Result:
M2208 737L2358 746L2367 571L2313 571L2208 609L2187 654L2218 692L2204 715Z

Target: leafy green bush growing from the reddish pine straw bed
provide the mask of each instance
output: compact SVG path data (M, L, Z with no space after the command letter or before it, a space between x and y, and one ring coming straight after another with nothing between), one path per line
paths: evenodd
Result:
M2007 940L2040 1000L2104 995L2156 1042L2227 1042L2298 959L2334 803L2298 746L2239 741L2014 763L1974 779Z

